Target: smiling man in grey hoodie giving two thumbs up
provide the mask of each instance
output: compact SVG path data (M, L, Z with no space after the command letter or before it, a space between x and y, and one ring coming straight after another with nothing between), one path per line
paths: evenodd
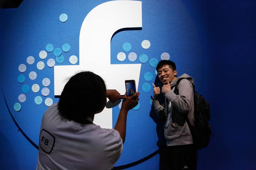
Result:
M157 117L166 119L164 131L167 140L166 148L160 153L159 169L196 169L197 150L187 123L189 120L194 126L194 80L187 74L177 78L176 65L169 60L160 61L156 70L163 87L161 90L153 84L152 103ZM165 96L163 104L158 101L161 92Z

